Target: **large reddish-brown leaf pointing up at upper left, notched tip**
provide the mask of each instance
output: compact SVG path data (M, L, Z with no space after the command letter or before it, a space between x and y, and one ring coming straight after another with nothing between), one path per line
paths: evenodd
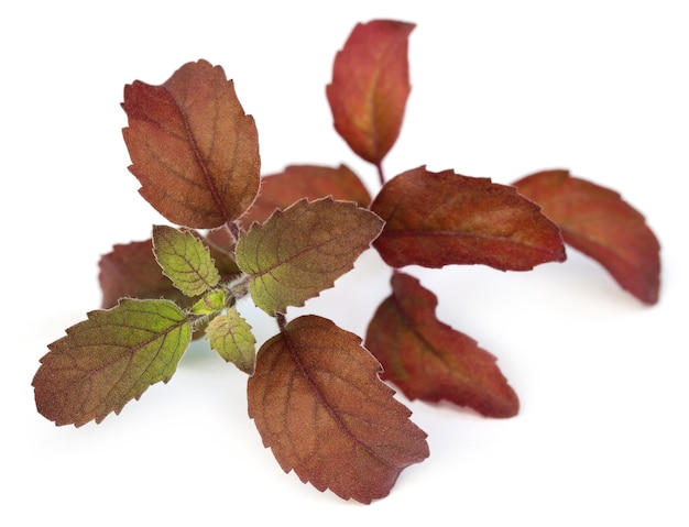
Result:
M141 195L179 226L233 221L259 190L256 128L231 80L206 61L188 63L161 86L124 87L124 142Z

